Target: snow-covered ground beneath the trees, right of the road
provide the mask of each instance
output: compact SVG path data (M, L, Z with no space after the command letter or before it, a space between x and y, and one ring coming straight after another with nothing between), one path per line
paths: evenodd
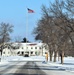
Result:
M58 66L58 68L63 68L66 71L74 72L74 58L73 57L65 57L64 64L60 64L61 61L57 61L56 63L49 63L51 65Z

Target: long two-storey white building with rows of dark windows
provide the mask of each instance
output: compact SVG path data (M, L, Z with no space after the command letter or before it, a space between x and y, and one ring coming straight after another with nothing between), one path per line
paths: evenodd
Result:
M2 56L35 56L43 55L48 52L47 45L44 43L9 43L2 51ZM12 48L13 47L13 48Z

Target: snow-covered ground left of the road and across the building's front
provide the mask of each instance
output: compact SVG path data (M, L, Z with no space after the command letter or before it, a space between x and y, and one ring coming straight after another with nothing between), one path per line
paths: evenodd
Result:
M42 56L32 56L32 57L23 57L23 56L9 56L9 57L0 57L0 67L5 66L13 61L46 61L45 57ZM11 63L11 64L12 64Z

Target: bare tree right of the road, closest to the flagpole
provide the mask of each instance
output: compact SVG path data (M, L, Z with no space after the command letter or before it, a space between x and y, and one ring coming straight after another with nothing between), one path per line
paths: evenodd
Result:
M36 40L42 40L43 43L46 43L49 46L50 61L52 61L53 54L53 17L49 16L48 9L45 6L42 6L43 16L38 21L36 29L34 29L34 34L36 35Z

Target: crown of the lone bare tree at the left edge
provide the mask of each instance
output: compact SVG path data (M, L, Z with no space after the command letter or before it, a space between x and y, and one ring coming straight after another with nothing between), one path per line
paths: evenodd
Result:
M0 24L0 43L10 41L10 33L13 31L12 25L9 23L1 23Z

